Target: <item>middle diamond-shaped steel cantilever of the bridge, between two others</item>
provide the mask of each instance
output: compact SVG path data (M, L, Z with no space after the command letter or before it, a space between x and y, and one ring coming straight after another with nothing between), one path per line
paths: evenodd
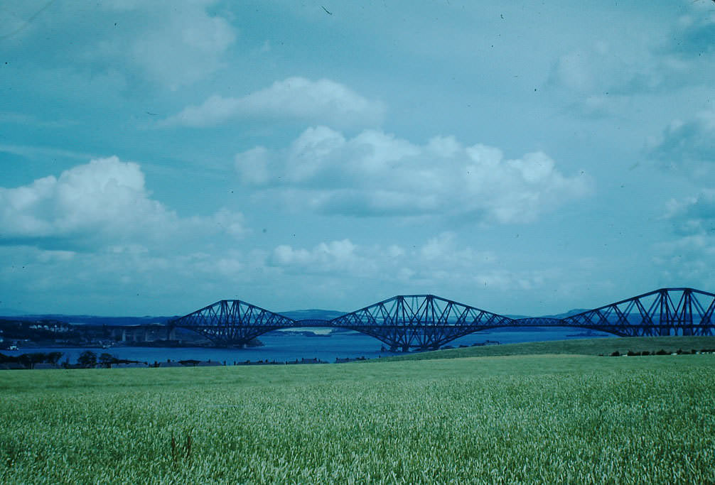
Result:
M390 346L438 349L460 336L506 326L512 319L434 295L402 295L332 319L331 326L360 331Z

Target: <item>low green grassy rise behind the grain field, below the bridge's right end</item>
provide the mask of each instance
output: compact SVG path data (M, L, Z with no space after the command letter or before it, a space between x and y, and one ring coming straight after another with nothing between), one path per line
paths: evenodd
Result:
M579 354L611 355L614 351L626 354L628 351L656 352L665 350L669 353L679 349L683 351L715 349L715 336L669 336L669 337L620 337L618 339L571 339L546 342L525 342L523 344L485 345L460 349L419 352L388 357L388 361L424 360L424 359L460 359L463 357L485 357L501 355L535 354ZM373 361L374 362L374 361Z

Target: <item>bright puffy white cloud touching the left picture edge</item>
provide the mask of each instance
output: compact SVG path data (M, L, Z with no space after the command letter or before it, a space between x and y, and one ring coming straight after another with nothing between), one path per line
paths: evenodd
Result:
M0 187L0 244L106 246L164 239L182 229L242 236L242 215L180 219L151 198L138 164L116 156L16 188Z

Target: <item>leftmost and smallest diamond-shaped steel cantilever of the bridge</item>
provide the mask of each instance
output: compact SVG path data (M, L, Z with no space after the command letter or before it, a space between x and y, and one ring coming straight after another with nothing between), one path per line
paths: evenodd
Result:
M169 321L191 329L219 345L242 345L268 331L293 326L295 321L240 300L221 300Z

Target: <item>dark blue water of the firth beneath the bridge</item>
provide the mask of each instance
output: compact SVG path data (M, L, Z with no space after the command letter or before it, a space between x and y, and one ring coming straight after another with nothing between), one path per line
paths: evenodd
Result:
M317 329L316 329L317 330ZM569 336L580 334L581 329L569 328L548 328L548 329L493 329L480 331L475 334L463 336L460 339L451 341L448 345L460 346L481 344L485 341L496 341L500 344L516 344L529 341L563 340L571 338L586 338L584 336ZM598 334L603 335L605 334ZM595 336L595 335L594 335ZM0 351L2 354L17 356L30 352L52 352L59 351L64 355L60 361L69 359L71 363L77 361L77 357L82 352L91 350L102 354L107 352L117 357L117 359L127 359L132 361L162 362L171 359L172 361L194 359L197 361L219 361L226 364L233 364L242 361L295 361L300 359L320 359L327 362L335 362L336 358L355 359L365 357L365 359L377 359L378 357L399 355L396 352L384 351L383 342L373 337L352 333L333 334L330 337L306 337L296 335L263 335L260 336L263 342L262 347L251 347L249 349L213 349L207 347L112 347L101 348L50 348L50 347L26 347L18 350Z

